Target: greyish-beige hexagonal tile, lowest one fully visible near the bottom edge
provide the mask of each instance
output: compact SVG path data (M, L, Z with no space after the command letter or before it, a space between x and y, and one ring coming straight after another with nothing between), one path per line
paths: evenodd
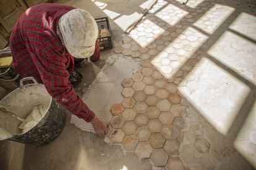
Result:
M154 149L150 160L155 166L166 166L168 161L168 155L163 148Z

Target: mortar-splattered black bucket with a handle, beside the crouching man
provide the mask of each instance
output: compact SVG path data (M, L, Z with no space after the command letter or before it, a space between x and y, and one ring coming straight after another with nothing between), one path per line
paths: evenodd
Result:
M23 85L23 81L27 80L34 83ZM38 84L34 78L21 79L20 88L4 97L0 105L23 119L38 105L43 106L36 124L25 131L19 129L22 123L19 119L0 112L0 140L45 145L55 139L64 127L65 113L59 109L58 103L48 94L45 86Z

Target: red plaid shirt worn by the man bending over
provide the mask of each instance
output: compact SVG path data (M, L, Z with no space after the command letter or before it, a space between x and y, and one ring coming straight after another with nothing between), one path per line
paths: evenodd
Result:
M11 34L12 67L20 76L33 76L45 84L49 94L71 113L91 121L93 111L79 99L69 82L74 57L56 33L59 19L72 9L61 4L40 4L27 9Z

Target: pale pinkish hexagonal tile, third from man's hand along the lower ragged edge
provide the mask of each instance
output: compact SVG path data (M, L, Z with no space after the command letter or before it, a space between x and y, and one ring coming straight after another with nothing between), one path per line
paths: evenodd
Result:
M139 158L150 158L150 155L153 151L149 142L139 142L135 153L139 156Z

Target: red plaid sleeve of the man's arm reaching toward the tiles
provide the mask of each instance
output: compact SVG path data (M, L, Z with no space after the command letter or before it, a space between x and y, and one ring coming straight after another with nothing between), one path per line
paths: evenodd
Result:
M75 94L69 82L69 71L66 68L68 58L58 50L60 47L56 39L51 36L44 39L41 41L42 47L38 52L40 56L33 57L33 61L47 91L72 114L87 122L91 121L95 113Z

